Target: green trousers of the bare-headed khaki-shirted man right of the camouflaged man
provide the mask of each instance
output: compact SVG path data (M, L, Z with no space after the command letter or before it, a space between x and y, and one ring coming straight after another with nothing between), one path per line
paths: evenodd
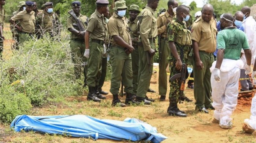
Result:
M204 65L199 70L195 65L195 57L193 57L193 74L194 74L194 96L196 108L211 106L211 72L210 67L214 61L212 53L199 51L200 59Z

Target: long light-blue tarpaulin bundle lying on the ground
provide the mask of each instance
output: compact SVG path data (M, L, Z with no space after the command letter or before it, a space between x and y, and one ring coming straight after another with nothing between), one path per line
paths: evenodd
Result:
M126 118L124 121L97 119L86 115L70 116L17 116L10 128L15 131L37 131L48 134L66 134L93 140L147 140L159 143L167 137L157 129L139 119Z

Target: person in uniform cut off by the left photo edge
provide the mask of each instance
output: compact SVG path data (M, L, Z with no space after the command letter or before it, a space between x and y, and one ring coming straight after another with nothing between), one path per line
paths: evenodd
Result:
M3 8L3 5L5 5L5 0L0 0L0 58L2 58L2 52L3 52L3 22L5 19L5 9Z

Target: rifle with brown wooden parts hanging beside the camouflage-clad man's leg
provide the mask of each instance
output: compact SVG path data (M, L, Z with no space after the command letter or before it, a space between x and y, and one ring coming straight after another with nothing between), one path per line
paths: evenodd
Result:
M170 82L173 82L175 79L180 78L179 80L179 85L180 85L180 97L179 97L179 103L181 102L181 97L183 95L184 92L184 88L185 88L185 83L186 83L186 72L187 72L187 65L185 63L182 64L182 70L181 73L177 73L175 75L173 75L170 78Z

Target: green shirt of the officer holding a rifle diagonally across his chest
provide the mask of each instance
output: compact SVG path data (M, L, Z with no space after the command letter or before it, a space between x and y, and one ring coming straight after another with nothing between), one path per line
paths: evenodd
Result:
M84 16L84 15L81 15L81 14L80 14L79 16L77 16L77 17L78 17L78 19L80 20L82 26L86 29L88 17L86 17L86 16ZM69 29L69 28L74 28L74 29L76 29L76 30L79 31L79 28L78 28L77 26L73 27L73 24L76 24L76 23L77 23L77 21L76 21L76 19L74 19L74 17L72 17L72 16L68 17L68 18L67 18L67 29ZM72 32L71 32L71 34L70 34L70 38L71 38L71 39L83 39L83 37L76 36L76 35L73 34Z

